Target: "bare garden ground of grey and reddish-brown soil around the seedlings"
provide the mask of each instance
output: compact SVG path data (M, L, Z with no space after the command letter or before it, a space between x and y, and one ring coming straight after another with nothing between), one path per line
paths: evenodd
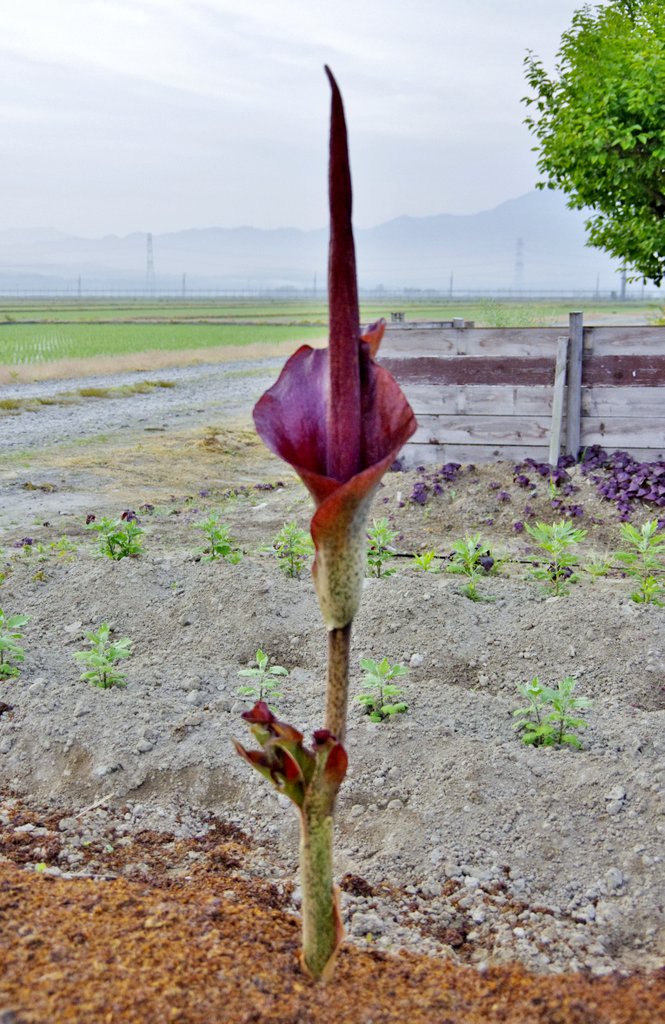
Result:
M402 662L409 712L382 725L350 712L336 840L349 940L321 990L297 968L296 822L231 742L238 672L259 646L289 669L280 717L320 724L313 588L271 550L285 521L306 526L302 487L247 417L110 432L1 469L0 604L30 615L20 677L0 683L3 1022L665 1017L665 610L632 602L617 571L544 593L514 527L574 503L582 561L616 549L616 509L589 478L574 470L555 511L547 481L532 473L527 489L508 464L462 467L423 505L409 499L432 476L385 478L373 514L398 534L397 572L367 581L351 685L362 656ZM128 508L143 553L98 557L85 516ZM209 510L239 564L200 559ZM415 570L414 553L445 568L475 532L506 558L481 582L487 600ZM76 552L50 548L64 537ZM101 622L133 641L124 689L79 678L72 654ZM515 735L516 684L535 675L572 675L592 698L583 750Z

